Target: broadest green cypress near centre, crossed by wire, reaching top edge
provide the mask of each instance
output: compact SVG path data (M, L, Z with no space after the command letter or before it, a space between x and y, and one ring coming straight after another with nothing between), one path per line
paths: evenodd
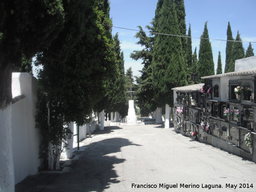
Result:
M159 0L156 8L154 30L157 33L179 35L175 4ZM178 36L155 35L153 55L154 99L160 105L173 105L171 89L187 85L181 39Z

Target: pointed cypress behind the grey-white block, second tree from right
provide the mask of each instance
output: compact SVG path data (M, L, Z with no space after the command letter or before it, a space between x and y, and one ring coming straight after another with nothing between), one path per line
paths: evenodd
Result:
M242 39L240 37L239 31L237 31L236 35L236 42L233 43L232 45L232 62L230 65L230 72L235 71L235 61L238 59L243 59L244 58L244 46L243 43L241 42Z

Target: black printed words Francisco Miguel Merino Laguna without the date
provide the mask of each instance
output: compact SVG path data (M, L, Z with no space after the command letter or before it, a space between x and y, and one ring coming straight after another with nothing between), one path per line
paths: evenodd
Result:
M132 188L157 188L156 184L144 184L144 185L138 185L138 184L134 184L132 183ZM178 183L176 184L165 184L165 183L159 183L158 188L178 188ZM180 188L200 188L200 185L198 184L184 184L184 183L180 183ZM219 184L215 184L215 185L208 185L208 184L202 184L201 188L207 188L207 189L211 189L211 188L222 188L222 186Z

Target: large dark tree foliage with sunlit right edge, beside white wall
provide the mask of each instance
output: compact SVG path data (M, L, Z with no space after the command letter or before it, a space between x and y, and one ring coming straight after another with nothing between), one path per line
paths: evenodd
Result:
M77 9L65 9L69 17L62 33L48 50L37 55L36 61L43 66L38 80L39 97L45 100L38 104L37 111L37 127L45 132L41 153L48 151L48 142L55 147L67 137L65 123L86 124L92 109L104 107L100 96L108 94L107 81L116 73L115 44L109 27L102 25L112 25L111 20L91 1L67 0L65 3L64 7ZM57 45L60 42L61 45ZM45 126L46 109L50 109L51 129Z

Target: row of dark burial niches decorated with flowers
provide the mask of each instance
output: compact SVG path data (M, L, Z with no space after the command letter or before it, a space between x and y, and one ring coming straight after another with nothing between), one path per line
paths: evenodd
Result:
M207 134L210 134L248 152L252 151L255 143L255 107L210 99L205 99L202 106L175 104L175 129L185 134L196 131L198 138L208 143L211 143L209 136L207 141ZM248 136L251 138L249 144L246 143Z

